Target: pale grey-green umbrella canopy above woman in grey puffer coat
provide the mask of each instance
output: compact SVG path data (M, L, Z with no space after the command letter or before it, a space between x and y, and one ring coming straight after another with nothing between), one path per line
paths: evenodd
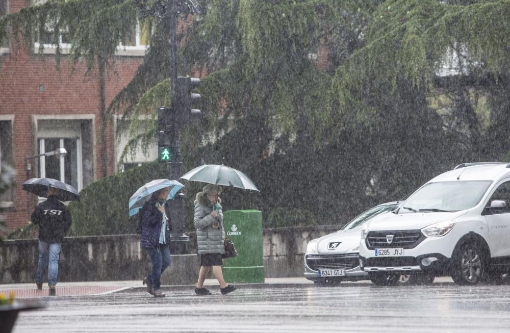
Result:
M233 186L244 190L259 191L247 175L225 165L206 164L186 172L181 179L221 186Z

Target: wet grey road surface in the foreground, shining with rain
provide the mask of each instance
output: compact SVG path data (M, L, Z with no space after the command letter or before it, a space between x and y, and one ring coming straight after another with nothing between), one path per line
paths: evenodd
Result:
M510 328L510 286L239 289L44 298L14 332L490 332ZM213 289L213 288L211 288Z

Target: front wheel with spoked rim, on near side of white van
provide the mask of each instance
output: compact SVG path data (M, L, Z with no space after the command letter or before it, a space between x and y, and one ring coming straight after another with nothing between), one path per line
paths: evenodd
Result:
M453 282L460 286L476 285L483 277L485 258L480 246L474 243L462 245L453 258Z

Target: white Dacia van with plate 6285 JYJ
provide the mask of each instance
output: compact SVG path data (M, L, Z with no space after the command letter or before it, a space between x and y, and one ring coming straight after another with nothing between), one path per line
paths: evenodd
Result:
M458 285L510 270L510 164L465 163L363 226L360 266L379 286L400 274L450 275Z

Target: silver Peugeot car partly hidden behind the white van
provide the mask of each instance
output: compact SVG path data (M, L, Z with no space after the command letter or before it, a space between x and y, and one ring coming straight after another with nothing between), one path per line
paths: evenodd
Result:
M356 216L337 232L311 240L304 254L304 277L316 285L368 279L360 269L361 226L371 218L395 210L400 202L379 204Z

